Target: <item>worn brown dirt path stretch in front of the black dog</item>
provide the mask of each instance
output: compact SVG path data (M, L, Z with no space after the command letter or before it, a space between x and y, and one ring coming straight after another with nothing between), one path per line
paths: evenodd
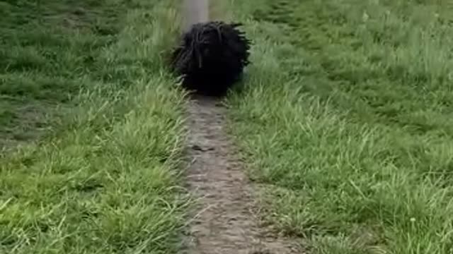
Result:
M224 131L224 107L216 99L194 97L188 111L192 159L188 183L199 198L188 253L300 253L294 244L272 237L258 226L253 216L253 189Z

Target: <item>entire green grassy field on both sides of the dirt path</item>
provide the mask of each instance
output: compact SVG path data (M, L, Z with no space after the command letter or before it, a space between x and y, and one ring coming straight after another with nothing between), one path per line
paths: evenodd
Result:
M453 4L233 2L263 219L314 254L453 253ZM0 1L0 253L177 253L175 4Z

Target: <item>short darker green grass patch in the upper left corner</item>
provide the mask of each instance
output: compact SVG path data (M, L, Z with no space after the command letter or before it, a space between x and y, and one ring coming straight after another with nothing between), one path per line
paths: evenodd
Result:
M126 1L0 1L0 150L46 135L82 87L108 82L104 47ZM61 109L59 109L61 108Z

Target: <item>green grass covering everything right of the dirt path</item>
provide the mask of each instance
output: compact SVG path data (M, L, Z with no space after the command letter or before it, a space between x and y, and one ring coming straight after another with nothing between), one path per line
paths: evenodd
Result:
M452 253L449 1L236 2L255 42L231 133L309 253Z

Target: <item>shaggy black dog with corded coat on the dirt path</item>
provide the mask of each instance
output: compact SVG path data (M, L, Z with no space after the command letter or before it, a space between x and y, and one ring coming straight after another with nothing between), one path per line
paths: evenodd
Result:
M182 85L205 95L222 95L248 65L250 40L237 30L241 23L197 23L183 35L171 57Z

